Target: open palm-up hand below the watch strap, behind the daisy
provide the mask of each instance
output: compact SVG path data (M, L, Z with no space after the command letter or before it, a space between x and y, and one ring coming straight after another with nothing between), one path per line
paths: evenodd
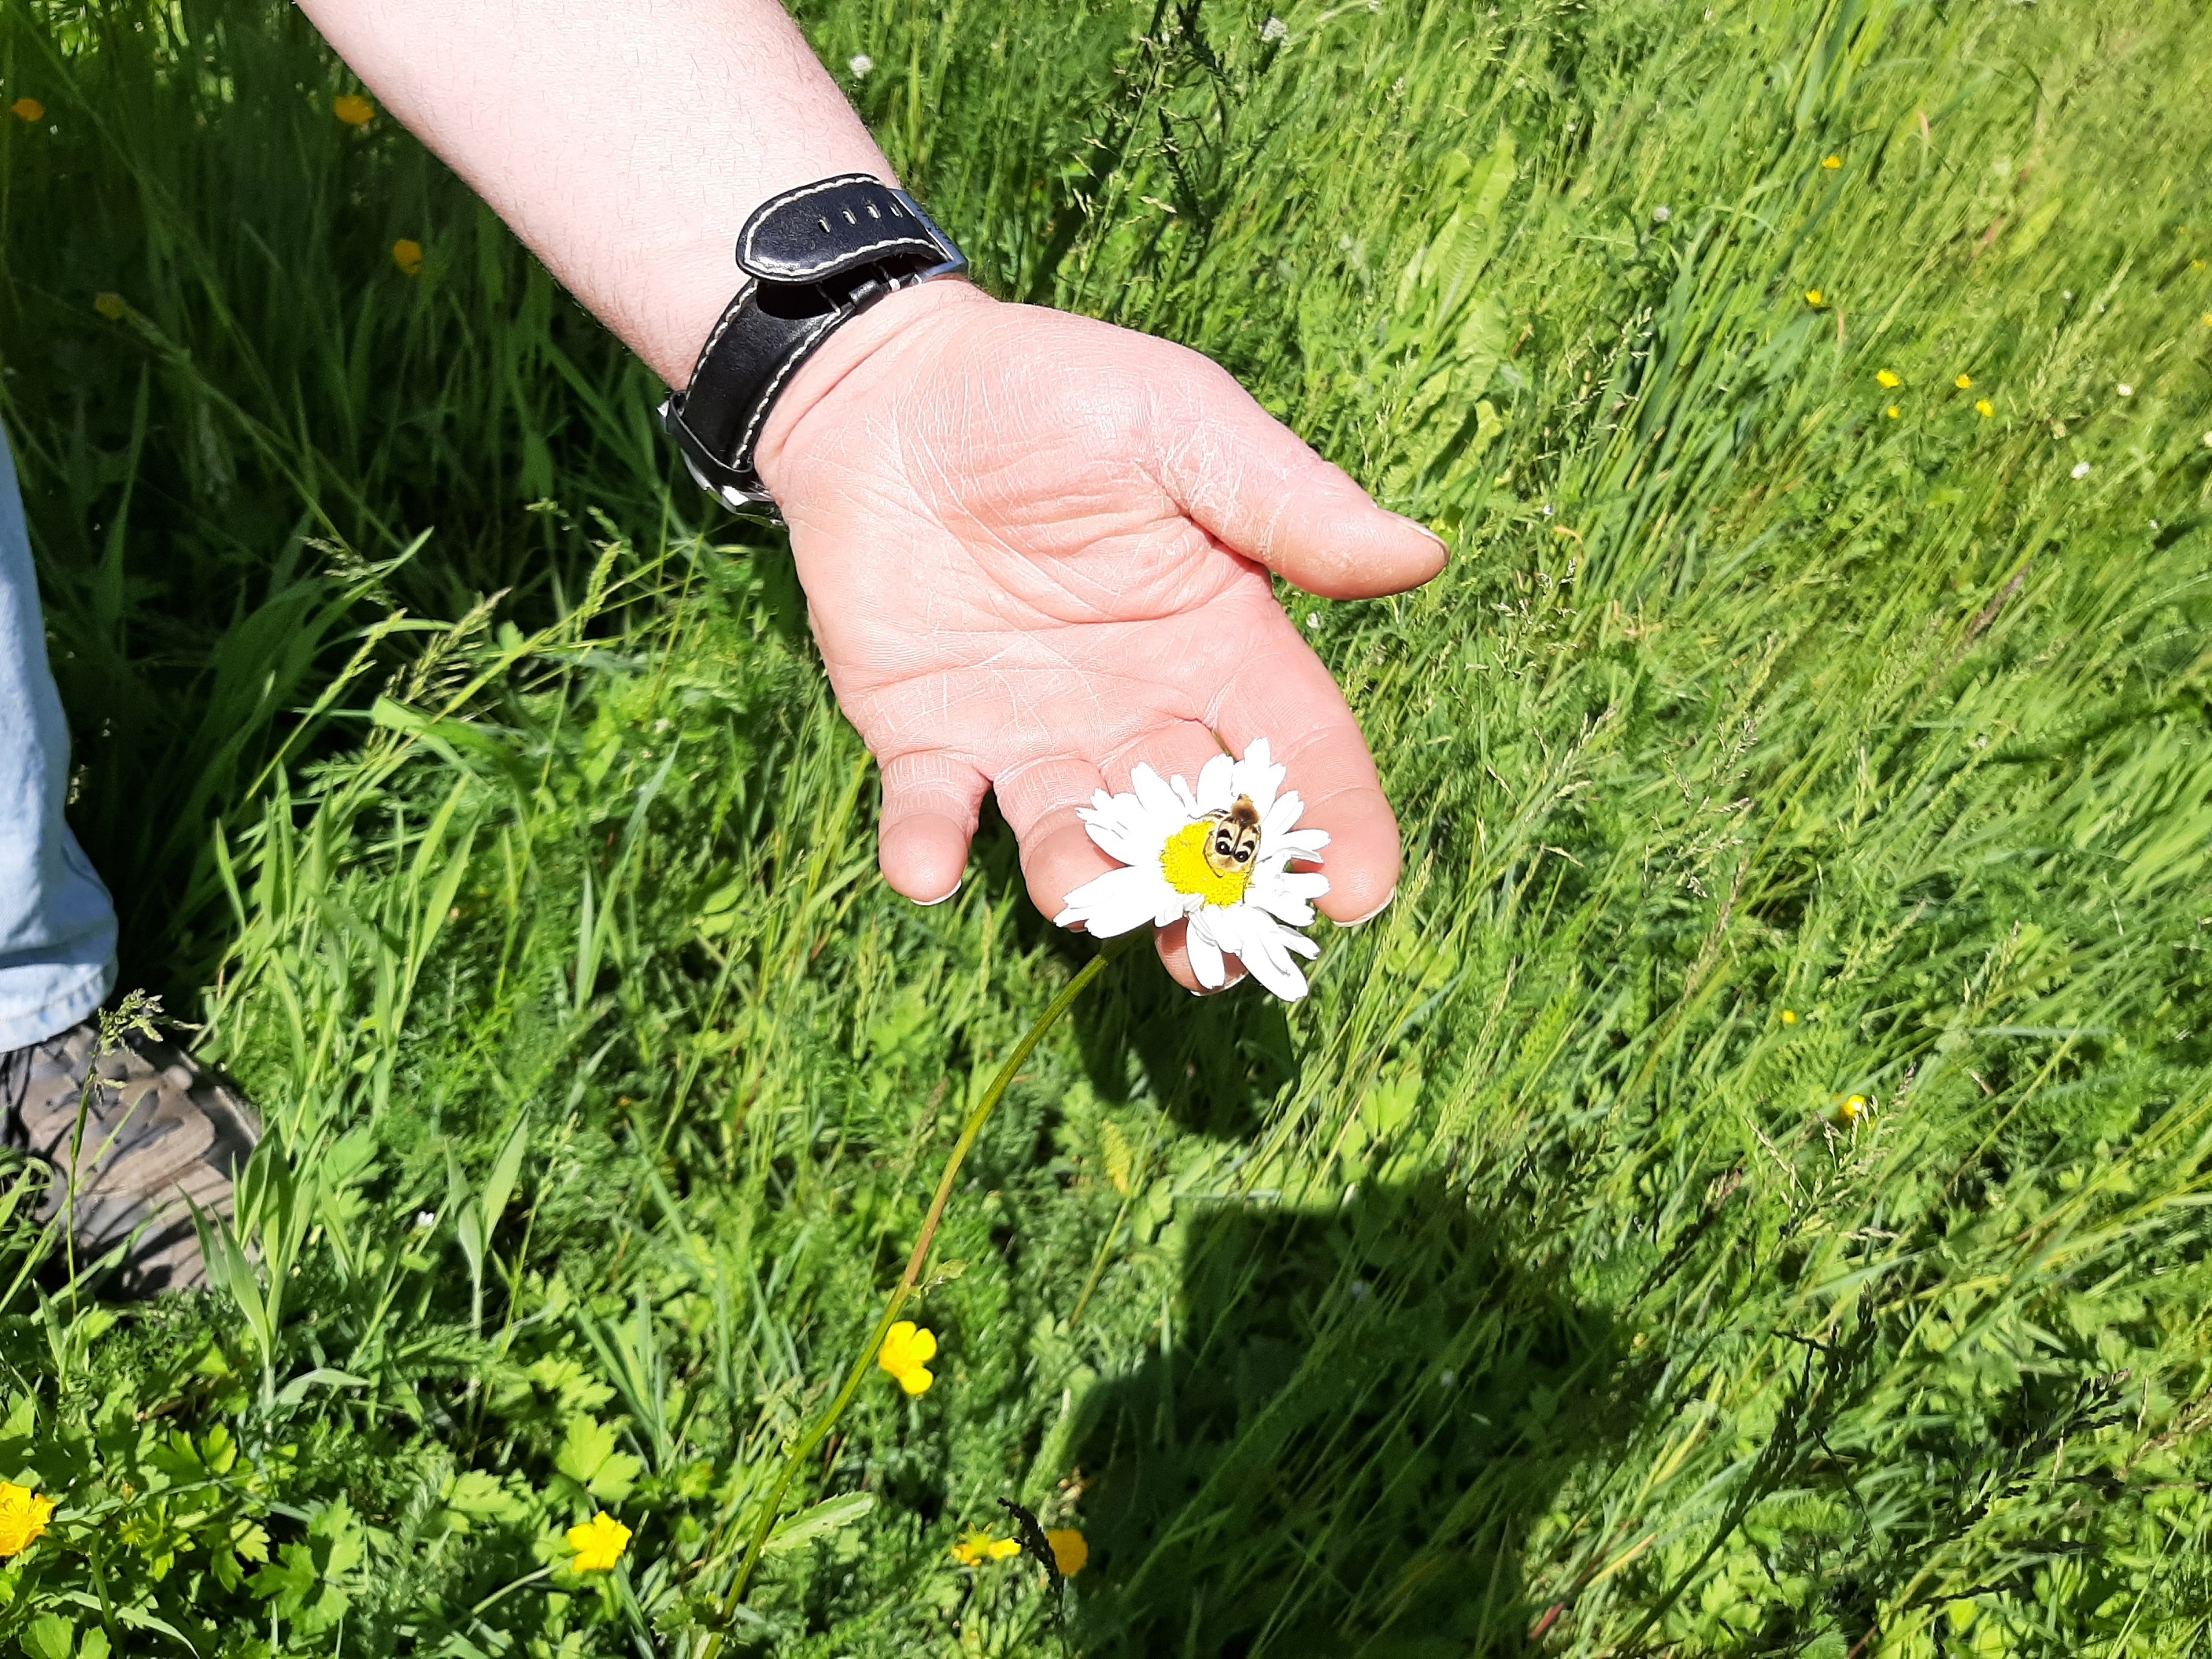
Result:
M1387 513L1212 361L967 283L838 330L776 403L759 471L792 531L830 684L883 768L880 863L949 898L987 790L1057 916L1113 867L1075 810L1148 761L1199 776L1270 739L1329 832L1336 922L1389 902L1398 823L1274 571L1365 599L1444 544ZM1197 989L1183 925L1170 973Z

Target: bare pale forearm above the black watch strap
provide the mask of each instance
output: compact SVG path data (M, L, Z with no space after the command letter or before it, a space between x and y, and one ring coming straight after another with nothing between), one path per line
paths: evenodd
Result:
M666 383L776 190L891 168L776 0L301 0L383 106Z

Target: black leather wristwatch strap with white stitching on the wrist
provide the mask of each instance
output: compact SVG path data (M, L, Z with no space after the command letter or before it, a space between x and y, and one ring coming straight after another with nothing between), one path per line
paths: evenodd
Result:
M737 511L772 509L752 451L799 365L885 294L958 276L967 257L905 190L841 173L763 201L737 237L737 268L745 283L661 427L701 489Z

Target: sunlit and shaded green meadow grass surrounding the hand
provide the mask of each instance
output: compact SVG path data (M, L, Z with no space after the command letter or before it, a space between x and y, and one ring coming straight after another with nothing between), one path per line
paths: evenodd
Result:
M1285 595L1396 907L1290 1011L1110 969L953 1194L938 1385L799 1482L872 1504L723 1650L1055 1652L949 1559L1015 1498L1091 1655L2201 1652L2212 18L1283 18L805 9L989 288L1217 354L1458 557ZM883 889L772 535L347 88L283 7L0 18L80 834L279 1130L237 1296L4 1223L64 1515L0 1644L699 1652L1088 947L1002 827Z

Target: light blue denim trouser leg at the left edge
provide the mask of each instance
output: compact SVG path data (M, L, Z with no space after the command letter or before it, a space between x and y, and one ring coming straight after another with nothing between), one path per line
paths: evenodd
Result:
M69 834L66 801L69 728L0 434L0 1053L66 1031L115 984L115 905Z

